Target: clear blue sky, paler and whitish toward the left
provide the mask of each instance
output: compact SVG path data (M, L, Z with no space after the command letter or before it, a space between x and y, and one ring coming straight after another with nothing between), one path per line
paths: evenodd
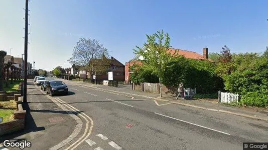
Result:
M98 39L123 64L146 34L168 32L173 48L263 52L268 0L31 0L28 61L52 70L67 61L80 37ZM1 0L0 50L24 53L25 0Z

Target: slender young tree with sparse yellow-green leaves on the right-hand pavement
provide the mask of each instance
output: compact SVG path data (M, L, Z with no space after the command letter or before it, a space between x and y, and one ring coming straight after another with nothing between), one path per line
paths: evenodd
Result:
M144 57L143 64L150 65L152 71L159 76L160 83L160 96L161 93L161 80L163 79L162 73L164 67L169 60L171 59L171 54L169 52L170 46L170 37L168 33L164 33L163 30L157 31L152 35L147 35L147 42L144 43L146 50L144 51L141 47L136 46L136 49L133 49L136 54L140 54Z

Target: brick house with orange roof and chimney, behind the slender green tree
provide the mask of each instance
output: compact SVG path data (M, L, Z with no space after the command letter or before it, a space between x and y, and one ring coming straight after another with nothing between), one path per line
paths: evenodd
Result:
M146 50L146 46L144 46L142 48L142 50ZM212 61L211 59L208 58L208 48L205 47L203 48L203 55L199 54L197 52L194 51L189 51L189 50L182 50L182 49L176 49L176 48L169 48L167 50L168 53L170 53L171 55L174 54L180 54L180 55L184 55L184 57L189 58L189 59L197 59L197 60L209 60ZM130 70L130 66L132 66L133 64L138 64L138 65L143 65L142 61L144 57L141 56L140 54L136 54L135 57L133 59L131 59L128 62L125 62L125 82L129 83L130 81L130 76L131 76L131 70Z

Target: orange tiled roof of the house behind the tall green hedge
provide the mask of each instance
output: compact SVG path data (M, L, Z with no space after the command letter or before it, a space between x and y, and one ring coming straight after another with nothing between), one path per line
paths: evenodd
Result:
M146 47L144 46L142 48L142 50L145 51ZM209 59L209 58L206 59L202 54L199 54L199 53L197 53L195 51L176 49L176 48L169 48L167 50L167 53L170 53L171 55L175 55L177 53L177 54L183 55L186 58L191 58L191 59L213 61L212 59ZM136 54L136 56L132 60L138 60L140 56L141 56L140 54Z

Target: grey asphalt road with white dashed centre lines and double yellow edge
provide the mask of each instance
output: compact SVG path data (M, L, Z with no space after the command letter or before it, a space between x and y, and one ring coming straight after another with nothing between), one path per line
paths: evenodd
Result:
M61 149L242 149L268 139L265 121L64 82L69 95L53 98L79 110L83 128Z

